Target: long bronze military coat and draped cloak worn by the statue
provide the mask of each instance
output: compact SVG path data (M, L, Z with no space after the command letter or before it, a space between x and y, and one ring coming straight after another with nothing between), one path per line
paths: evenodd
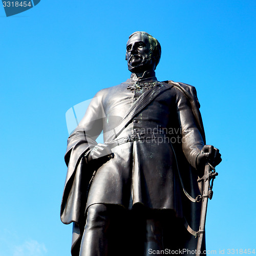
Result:
M128 209L141 203L153 209L172 209L178 218L186 218L198 230L200 203L191 206L184 200L178 174L179 169L191 196L200 194L196 182L199 173L195 168L205 138L194 87L170 84L168 90L148 104L115 138L123 141L139 134L144 136L143 140L116 143L112 147L114 158L98 162L98 166L92 164L96 161L88 164L83 157L97 144L95 140L102 131L104 141L108 139L122 116L147 90L146 86L133 91L127 89L138 81L158 82L154 73L145 72L140 79L132 74L126 82L99 91L68 139L65 156L68 173L61 220L65 224L74 222L73 255L78 251L76 246L82 236L86 209L95 203L118 204ZM88 194L88 181L95 169Z

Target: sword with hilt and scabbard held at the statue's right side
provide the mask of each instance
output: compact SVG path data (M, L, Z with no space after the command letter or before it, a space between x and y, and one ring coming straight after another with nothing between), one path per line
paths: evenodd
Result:
M205 220L206 220L206 212L207 212L207 203L208 198L211 200L214 192L212 191L212 186L214 185L214 179L218 176L216 173L214 166L209 163L205 164L204 168L204 176L198 179L198 182L203 182L203 195L202 195L202 207L201 207L201 216L200 216L200 225L198 231L198 241L197 241L197 251L196 255L200 256L201 247L203 242L203 236L205 233ZM211 184L210 184L211 181Z

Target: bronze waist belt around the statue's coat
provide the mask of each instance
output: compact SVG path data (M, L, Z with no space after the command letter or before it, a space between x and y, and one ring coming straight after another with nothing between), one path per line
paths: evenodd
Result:
M133 133L133 134L128 134L123 138L113 140L110 142L106 142L106 145L109 145L111 148L121 145L123 143L127 142L132 142L132 141L137 141L137 140L150 140L150 139L158 139L165 137L166 134L161 134L161 133Z

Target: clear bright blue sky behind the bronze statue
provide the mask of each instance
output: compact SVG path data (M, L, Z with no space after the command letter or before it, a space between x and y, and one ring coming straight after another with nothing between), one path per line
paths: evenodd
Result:
M130 76L125 45L135 31L162 46L159 80L197 88L207 143L223 156L207 249L256 250L256 1L156 3L41 0L11 17L0 6L0 256L70 255L72 227L59 218L65 114Z

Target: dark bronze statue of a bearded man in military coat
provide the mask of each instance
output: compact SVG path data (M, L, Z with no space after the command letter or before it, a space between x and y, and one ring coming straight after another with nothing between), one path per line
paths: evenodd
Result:
M61 220L74 223L72 255L196 249L184 222L198 230L201 205L185 194L200 195L198 176L221 155L205 145L195 88L157 80L160 56L157 39L133 33L131 77L99 91L68 139ZM104 144L97 144L102 131Z

